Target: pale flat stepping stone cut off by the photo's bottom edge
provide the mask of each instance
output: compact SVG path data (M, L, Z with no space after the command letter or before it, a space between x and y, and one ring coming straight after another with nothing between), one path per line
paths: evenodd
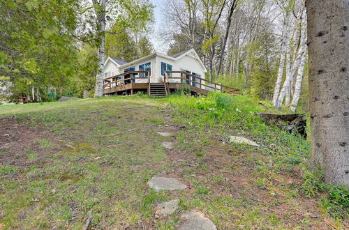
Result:
M184 224L181 224L179 230L216 230L211 220L205 217L204 214L196 211L190 211L183 213L181 219L186 220Z

